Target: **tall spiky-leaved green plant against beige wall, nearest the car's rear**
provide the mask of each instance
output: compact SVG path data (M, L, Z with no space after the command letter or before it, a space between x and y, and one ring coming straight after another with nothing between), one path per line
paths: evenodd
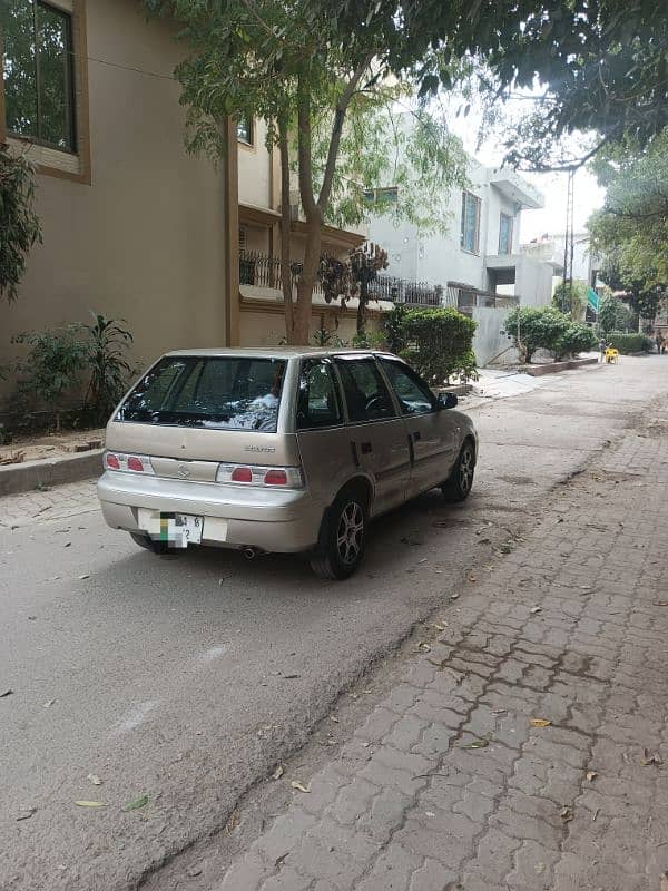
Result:
M125 393L132 365L127 352L132 345L132 335L125 319L108 319L90 311L94 323L88 325L88 368L90 381L86 393L85 409L95 423L104 423Z

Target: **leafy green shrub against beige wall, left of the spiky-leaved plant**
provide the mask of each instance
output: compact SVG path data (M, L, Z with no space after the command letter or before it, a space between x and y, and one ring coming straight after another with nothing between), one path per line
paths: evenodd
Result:
M12 343L30 346L28 356L17 363L17 398L22 404L35 401L48 404L60 430L63 400L81 385L88 364L88 343L79 324L61 329L17 334Z

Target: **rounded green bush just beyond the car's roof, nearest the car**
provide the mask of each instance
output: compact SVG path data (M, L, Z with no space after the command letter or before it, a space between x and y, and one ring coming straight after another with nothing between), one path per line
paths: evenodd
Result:
M395 307L385 322L387 345L410 362L432 385L456 375L475 376L473 334L468 315L444 306L435 310Z

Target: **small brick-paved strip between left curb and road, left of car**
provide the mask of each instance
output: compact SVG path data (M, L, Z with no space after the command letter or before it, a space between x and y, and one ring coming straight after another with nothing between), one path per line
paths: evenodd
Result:
M67 482L52 489L3 496L0 499L0 529L18 529L99 510L96 482L95 479Z

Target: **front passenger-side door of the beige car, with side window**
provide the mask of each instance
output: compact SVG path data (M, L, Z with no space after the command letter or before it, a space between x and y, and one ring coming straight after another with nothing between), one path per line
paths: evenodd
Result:
M454 415L441 408L429 384L404 362L379 356L399 401L411 449L411 496L439 486L450 474L456 458L459 425Z

